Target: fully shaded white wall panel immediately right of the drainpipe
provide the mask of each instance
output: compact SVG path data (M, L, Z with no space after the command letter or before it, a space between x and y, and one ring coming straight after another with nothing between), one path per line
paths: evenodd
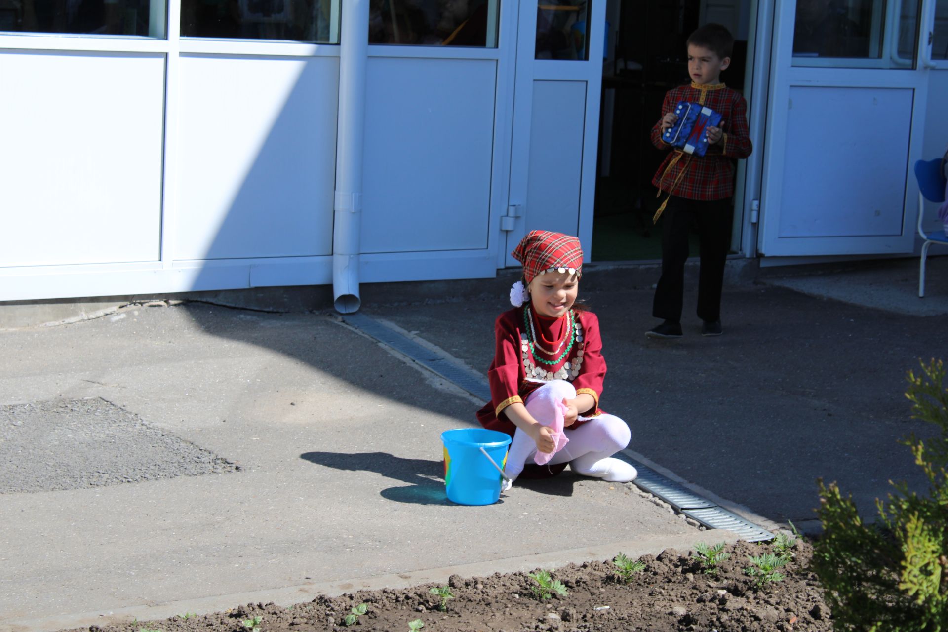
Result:
M487 247L495 60L370 58L364 253Z

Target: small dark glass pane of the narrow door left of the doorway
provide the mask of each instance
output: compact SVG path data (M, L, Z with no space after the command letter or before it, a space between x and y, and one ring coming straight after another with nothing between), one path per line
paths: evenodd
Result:
M590 58L586 37L589 2L586 0L538 0L538 60L581 60Z

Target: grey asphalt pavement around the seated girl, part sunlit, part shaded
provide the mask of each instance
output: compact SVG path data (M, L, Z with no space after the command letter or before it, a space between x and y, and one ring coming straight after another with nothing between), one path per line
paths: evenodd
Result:
M929 266L924 299L912 260L737 275L724 334L702 337L686 317L674 342L644 336L657 271L590 266L580 298L602 325L601 404L629 422L641 458L759 523L816 529L818 477L872 515L889 479L921 485L897 440L928 432L910 419L906 371L948 350L948 258ZM363 314L483 375L509 276L367 286ZM910 309L920 300L928 316ZM282 313L259 311L259 299L253 310L130 304L0 332L0 459L42 465L13 447L10 433L31 419L25 406L61 410L82 430L48 444L57 467L114 419L194 447L169 452L177 465L150 465L164 473L154 479L110 476L148 459L150 443L124 442L111 455L124 463L103 459L91 483L72 476L84 487L0 494L0 630L288 605L733 539L698 531L633 486L568 472L515 486L496 505L449 503L439 435L472 426L477 399L347 326L328 302L315 312L291 302ZM685 311L694 304L689 287ZM198 453L228 466L196 471L188 455Z

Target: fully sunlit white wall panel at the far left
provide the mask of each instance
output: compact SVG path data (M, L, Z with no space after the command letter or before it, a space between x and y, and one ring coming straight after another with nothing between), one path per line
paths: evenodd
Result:
M164 56L0 53L0 266L159 257Z

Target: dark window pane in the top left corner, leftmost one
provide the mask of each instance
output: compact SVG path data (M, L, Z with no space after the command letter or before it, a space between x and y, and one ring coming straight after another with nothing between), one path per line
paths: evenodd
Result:
M164 37L164 3L150 0L0 0L0 30ZM153 10L154 9L154 10Z

